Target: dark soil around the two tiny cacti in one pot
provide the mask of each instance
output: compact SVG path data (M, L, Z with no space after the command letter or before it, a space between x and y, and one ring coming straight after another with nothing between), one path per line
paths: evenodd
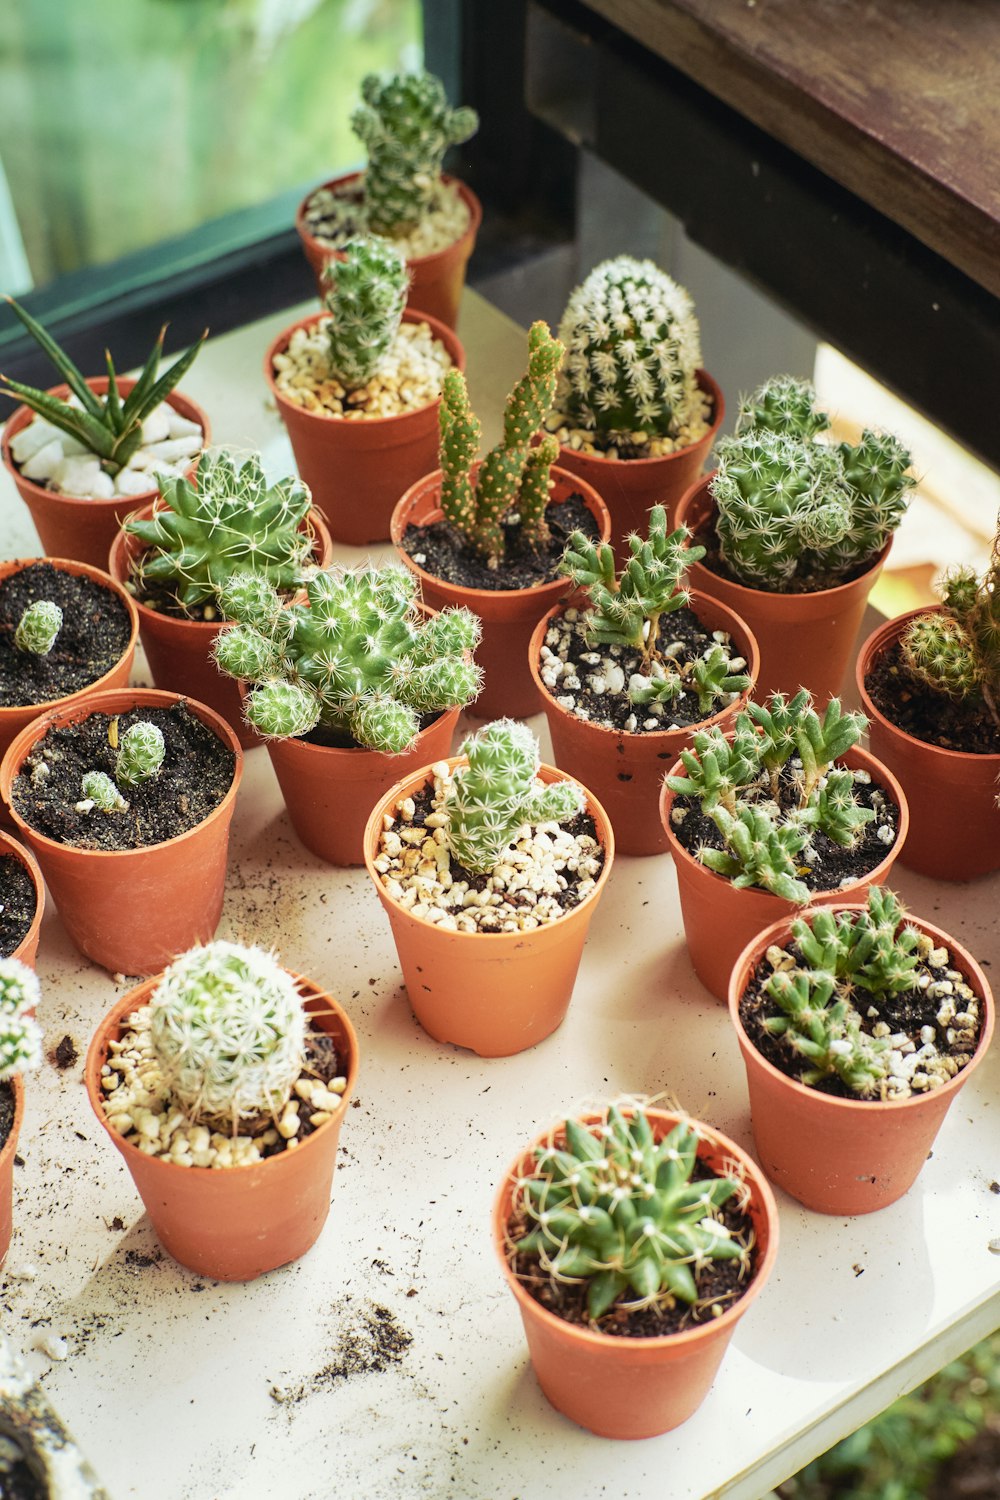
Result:
M139 720L156 724L165 741L163 764L150 780L123 788L129 802L124 813L102 813L96 807L78 812L85 771L105 771L114 778L117 752L108 741L112 720L118 740ZM172 708L133 708L49 729L21 765L12 798L21 818L57 843L78 849L144 849L204 822L229 790L234 770L232 752L183 702Z

